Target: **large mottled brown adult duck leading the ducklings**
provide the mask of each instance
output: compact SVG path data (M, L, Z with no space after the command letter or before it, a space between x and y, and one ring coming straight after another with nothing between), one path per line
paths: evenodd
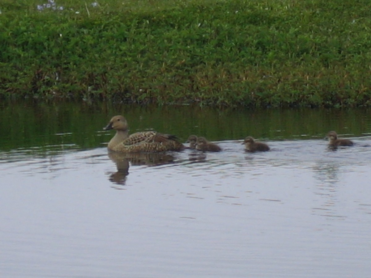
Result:
M185 147L175 135L156 131L136 132L129 135L128 122L124 116L112 117L103 130L116 130L108 143L108 150L124 153L179 151Z

